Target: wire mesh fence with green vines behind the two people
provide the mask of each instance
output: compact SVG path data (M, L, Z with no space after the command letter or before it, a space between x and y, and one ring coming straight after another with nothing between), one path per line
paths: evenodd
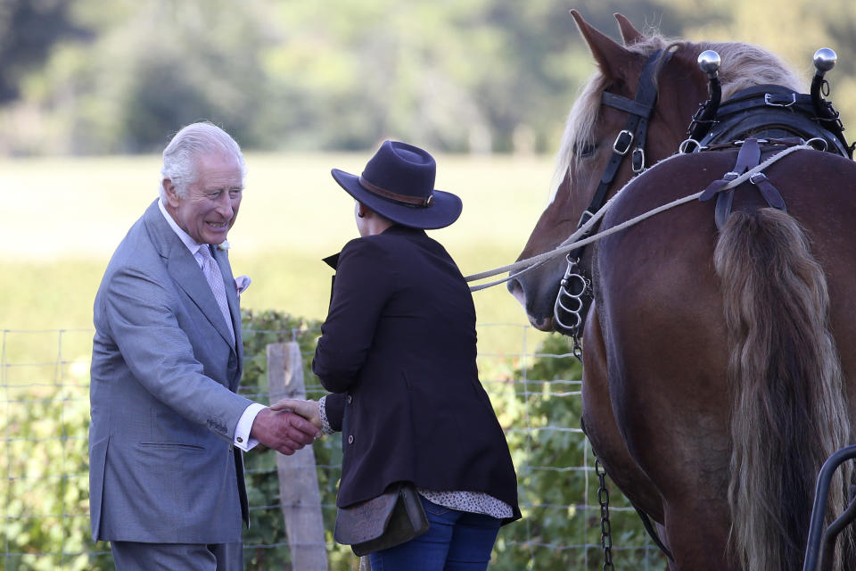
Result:
M245 327L248 324L245 323ZM250 324L251 325L251 324ZM599 569L603 565L601 509L594 459L580 430L580 368L561 338L526 352L527 327L503 327L520 339L518 353L480 346L482 383L494 404L518 475L523 519L500 529L491 569ZM89 531L87 433L89 358L93 331L3 330L0 407L4 475L2 569L110 569L106 542ZM311 359L317 330L245 328L242 393L267 403L266 343L298 340ZM309 370L309 368L305 368ZM309 398L325 394L307 373ZM333 541L335 492L341 474L338 434L314 445L330 569L357 569L350 549ZM290 569L276 457L245 455L251 525L244 532L247 569ZM663 569L635 511L614 487L610 517L616 568Z

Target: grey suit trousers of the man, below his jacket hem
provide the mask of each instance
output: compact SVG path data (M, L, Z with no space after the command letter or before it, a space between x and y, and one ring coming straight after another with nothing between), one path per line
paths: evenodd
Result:
M243 571L243 542L111 542L117 571Z

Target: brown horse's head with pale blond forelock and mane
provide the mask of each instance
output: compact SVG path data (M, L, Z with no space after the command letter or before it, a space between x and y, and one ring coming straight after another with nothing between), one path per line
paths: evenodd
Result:
M646 123L644 167L676 153L680 142L687 138L693 114L708 97L707 78L697 64L698 54L704 50L714 49L722 56L723 98L752 83L789 86L799 83L793 77L782 78L780 70L784 66L774 55L756 46L734 42L670 42L659 35L643 35L621 14L615 14L623 39L620 45L590 26L579 12L572 11L572 16L597 62L597 70L572 106L558 153L558 184L518 261L555 249L577 229L610 161L616 160L617 137L626 128L630 115L626 109L605 103L605 97L632 103L652 54L657 55L648 69L653 70L656 103ZM747 73L747 69L757 73ZM623 160L618 157L621 162L608 184L607 197L634 176L630 154ZM586 248L580 259L580 267L586 273L592 251L593 248ZM564 257L557 257L508 282L509 292L523 304L532 326L540 330L555 327L553 307L566 267Z

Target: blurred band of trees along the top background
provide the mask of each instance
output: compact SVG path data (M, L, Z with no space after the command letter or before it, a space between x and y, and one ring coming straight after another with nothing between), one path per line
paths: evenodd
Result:
M820 46L856 120L856 15L845 0L578 0L669 37L740 39L811 75ZM194 120L248 149L353 150L384 137L437 152L556 148L594 70L560 0L4 0L0 154L145 153ZM5 98L5 99L4 99Z

